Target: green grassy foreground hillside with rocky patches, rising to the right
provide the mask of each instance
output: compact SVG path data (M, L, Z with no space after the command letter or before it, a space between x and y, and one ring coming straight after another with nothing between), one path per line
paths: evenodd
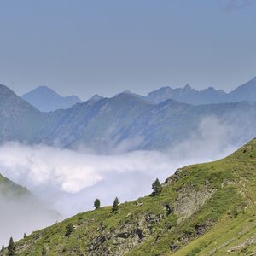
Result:
M256 139L178 169L159 195L79 213L15 243L18 255L253 255ZM2 255L7 255L6 250Z

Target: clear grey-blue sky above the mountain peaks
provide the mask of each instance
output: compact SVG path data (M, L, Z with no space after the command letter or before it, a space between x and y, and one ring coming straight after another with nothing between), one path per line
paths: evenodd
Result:
M87 99L256 76L254 0L0 0L0 84Z

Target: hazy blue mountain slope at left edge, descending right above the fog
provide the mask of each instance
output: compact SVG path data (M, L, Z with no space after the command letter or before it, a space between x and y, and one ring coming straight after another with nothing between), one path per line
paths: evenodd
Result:
M0 85L0 142L32 142L44 120L36 108Z

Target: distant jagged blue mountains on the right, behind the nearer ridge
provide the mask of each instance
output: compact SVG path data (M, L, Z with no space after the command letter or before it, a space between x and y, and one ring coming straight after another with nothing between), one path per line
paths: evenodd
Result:
M147 99L154 104L164 102L167 99L192 105L242 101L256 102L256 78L242 84L230 93L226 93L224 90L215 90L212 87L205 90L195 90L187 84L185 87L177 89L168 86L162 87L148 93Z

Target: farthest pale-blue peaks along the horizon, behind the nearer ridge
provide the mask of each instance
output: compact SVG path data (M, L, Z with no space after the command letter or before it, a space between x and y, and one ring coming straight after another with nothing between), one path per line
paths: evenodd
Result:
M154 104L165 102L172 99L177 102L184 102L191 105L213 104L224 102L255 102L256 101L256 77L245 84L238 86L230 93L224 90L215 90L209 87L205 90L195 90L189 84L183 88L172 89L169 86L161 87L148 93L148 96L142 96L125 90L123 93L137 96L141 100L145 100ZM93 98L102 98L102 96L93 96ZM55 111L57 109L72 108L76 103L81 103L78 96L60 96L54 90L47 86L39 86L38 88L21 96L23 100L30 103L34 108L42 112Z

